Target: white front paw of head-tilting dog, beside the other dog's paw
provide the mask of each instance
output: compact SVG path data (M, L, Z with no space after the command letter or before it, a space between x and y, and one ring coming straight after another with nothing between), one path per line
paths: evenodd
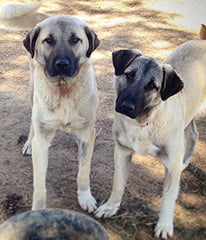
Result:
M109 202L106 202L96 210L95 216L97 218L101 218L101 217L110 218L117 213L119 206L120 206L120 202L115 204L110 204Z

